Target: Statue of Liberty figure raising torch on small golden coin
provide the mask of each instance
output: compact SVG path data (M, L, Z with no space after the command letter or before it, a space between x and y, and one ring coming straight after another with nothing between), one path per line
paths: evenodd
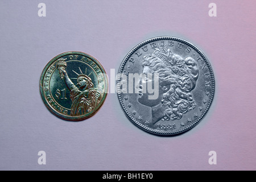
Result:
M67 63L64 62L65 59L60 58L57 62L60 78L65 80L65 84L70 90L70 98L72 101L71 105L71 116L79 116L89 113L94 110L101 100L101 92L94 88L94 84L92 82L92 78L88 75L82 73L80 67L81 74L76 73L77 78L69 78L65 68L67 67ZM86 72L86 71L85 71ZM71 79L76 79L77 84L73 84ZM77 85L79 87L77 87Z

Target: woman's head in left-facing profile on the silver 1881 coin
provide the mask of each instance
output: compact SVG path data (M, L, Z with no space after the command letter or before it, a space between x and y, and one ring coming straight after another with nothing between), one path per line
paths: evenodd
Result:
M199 68L192 57L183 59L167 46L158 46L154 53L143 57L142 66L144 75L156 73L159 78L158 98L149 100L146 92L138 97L139 103L152 108L153 125L161 119L180 119L183 114L195 109L191 91L195 89ZM143 81L152 84L148 78Z

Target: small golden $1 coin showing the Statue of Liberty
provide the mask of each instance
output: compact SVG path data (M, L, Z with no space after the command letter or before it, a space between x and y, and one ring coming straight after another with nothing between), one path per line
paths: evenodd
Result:
M40 78L44 104L57 117L81 121L100 109L108 92L102 65L84 52L64 52L54 57Z

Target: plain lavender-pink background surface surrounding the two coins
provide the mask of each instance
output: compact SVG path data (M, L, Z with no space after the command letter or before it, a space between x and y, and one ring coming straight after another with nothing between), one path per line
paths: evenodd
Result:
M46 3L46 17L38 4ZM209 3L217 17L208 15ZM255 1L0 1L1 170L255 170ZM216 94L206 117L177 137L126 118L116 94L82 122L44 106L40 75L59 53L96 57L110 75L137 44L178 36L212 64ZM38 152L46 151L46 165ZM217 164L208 163L209 151Z

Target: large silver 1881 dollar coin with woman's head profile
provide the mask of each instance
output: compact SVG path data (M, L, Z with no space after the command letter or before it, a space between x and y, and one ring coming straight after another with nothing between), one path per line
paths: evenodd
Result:
M199 123L213 101L214 75L199 48L171 36L134 47L118 71L123 111L140 129L177 135Z

